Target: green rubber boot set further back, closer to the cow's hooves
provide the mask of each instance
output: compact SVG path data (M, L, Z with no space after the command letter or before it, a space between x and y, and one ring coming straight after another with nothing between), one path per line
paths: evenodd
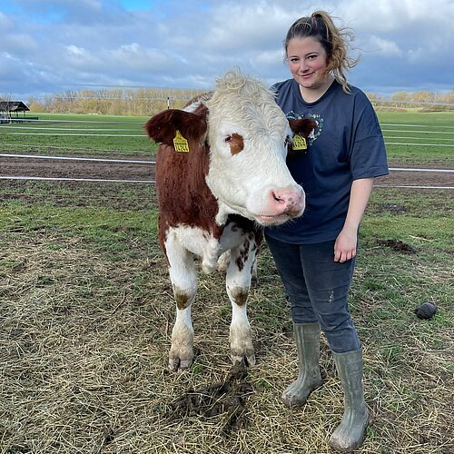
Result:
M293 323L293 334L300 371L298 379L282 393L289 407L304 405L311 392L321 386L319 323Z

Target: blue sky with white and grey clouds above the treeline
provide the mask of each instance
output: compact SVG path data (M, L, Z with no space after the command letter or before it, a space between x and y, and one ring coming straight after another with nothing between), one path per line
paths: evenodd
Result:
M355 34L351 84L454 90L454 2L438 0L1 0L0 96L84 88L210 89L232 67L286 79L291 23L324 9Z

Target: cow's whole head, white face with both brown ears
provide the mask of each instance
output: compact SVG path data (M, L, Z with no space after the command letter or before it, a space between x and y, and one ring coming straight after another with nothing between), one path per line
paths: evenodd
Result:
M267 87L230 72L217 80L211 96L184 111L158 114L145 129L153 140L167 144L177 130L191 146L201 147L206 140L210 156L205 181L218 201L218 223L238 213L272 225L304 211L305 194L285 160L292 136L307 138L314 126L304 119L290 126Z

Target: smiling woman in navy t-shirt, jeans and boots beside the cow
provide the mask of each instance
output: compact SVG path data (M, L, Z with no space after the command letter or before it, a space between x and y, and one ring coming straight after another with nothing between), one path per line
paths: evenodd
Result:
M266 239L291 301L300 361L298 379L284 390L289 405L302 405L321 386L320 330L330 345L344 390L334 449L349 452L364 439L369 413L362 386L362 351L351 321L348 293L358 248L358 229L374 177L388 173L377 116L345 73L351 35L327 13L301 17L284 41L292 78L275 84L276 100L291 119L317 127L307 150L288 158L293 178L306 192L307 208L296 222L266 229Z

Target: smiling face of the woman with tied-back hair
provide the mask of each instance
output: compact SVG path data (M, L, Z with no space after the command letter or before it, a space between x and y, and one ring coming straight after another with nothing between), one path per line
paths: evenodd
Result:
M302 88L318 89L328 80L328 56L320 41L308 36L291 38L287 44L291 75Z

